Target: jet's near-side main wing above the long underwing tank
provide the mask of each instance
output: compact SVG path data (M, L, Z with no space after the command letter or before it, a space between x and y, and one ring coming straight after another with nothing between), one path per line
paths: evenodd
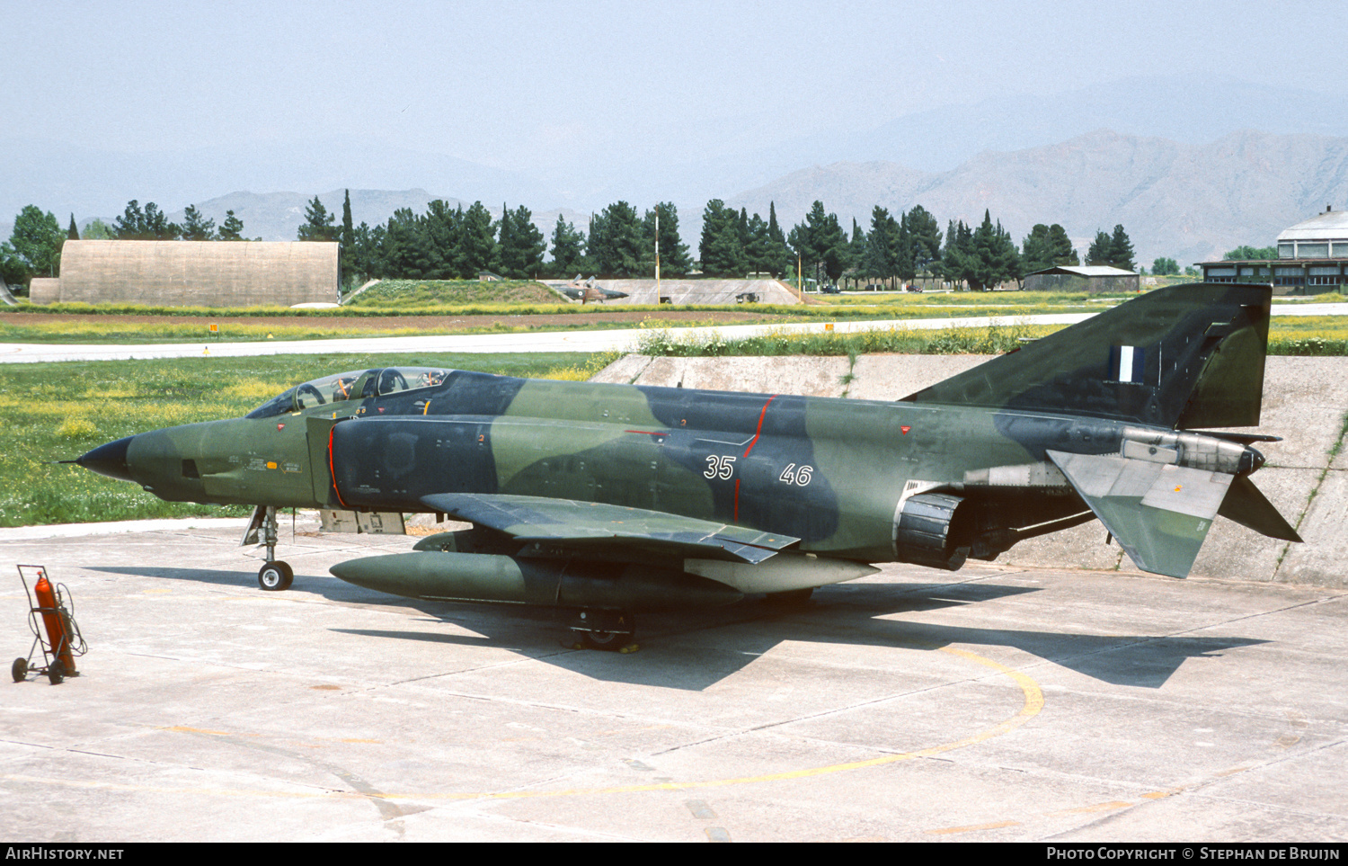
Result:
M623 552L642 552L754 564L799 541L791 536L760 533L716 521L600 502L435 494L422 498L422 503L456 519L495 529L535 549L558 546L611 558ZM522 554L527 553L526 548Z

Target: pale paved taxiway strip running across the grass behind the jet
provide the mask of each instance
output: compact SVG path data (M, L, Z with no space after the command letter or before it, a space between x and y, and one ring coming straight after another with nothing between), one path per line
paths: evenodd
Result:
M1348 304L1274 306L1274 316L1348 316ZM1073 325L1095 313L1054 313L1047 316L968 316L961 318L896 318L842 321L837 333L888 330L890 328L940 329L987 328L988 325ZM720 335L743 339L771 332L820 333L825 322L790 325L728 325L723 328L678 328L689 340ZM527 333L437 335L427 337L353 337L341 340L267 340L263 343L168 343L155 345L57 345L44 343L0 344L0 363L22 364L63 360L129 360L140 357L249 357L256 355L333 355L368 352L630 352L636 349L636 329L549 330Z

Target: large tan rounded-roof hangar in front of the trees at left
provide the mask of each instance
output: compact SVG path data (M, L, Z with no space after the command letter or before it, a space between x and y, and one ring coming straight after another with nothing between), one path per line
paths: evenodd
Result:
M337 302L340 244L328 241L67 240L61 275L34 304L166 306Z

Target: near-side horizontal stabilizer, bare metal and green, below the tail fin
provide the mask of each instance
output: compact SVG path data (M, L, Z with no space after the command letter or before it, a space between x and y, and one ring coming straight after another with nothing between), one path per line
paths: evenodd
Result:
M1047 452L1128 558L1185 577L1235 476L1117 455Z

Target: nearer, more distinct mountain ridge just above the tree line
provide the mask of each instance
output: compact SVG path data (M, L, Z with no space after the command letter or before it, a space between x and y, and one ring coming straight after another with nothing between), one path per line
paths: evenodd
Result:
M344 190L317 196L340 221ZM291 240L313 197L237 192L197 202L197 208L217 224L233 210L248 237ZM350 190L356 223L371 225L387 221L399 208L425 212L434 198L452 206L470 204L425 189ZM942 225L948 220L975 225L987 210L1018 241L1035 223L1060 223L1082 252L1097 231L1122 224L1139 264L1150 266L1162 255L1188 264L1220 258L1240 244L1270 246L1282 229L1326 205L1344 208L1348 138L1243 131L1206 144L1184 144L1100 129L1058 144L985 151L949 171L880 161L813 166L725 201L764 216L768 204L775 204L778 220L790 227L805 219L816 200L848 229L853 219L869 229L876 205L898 213L917 204ZM696 255L706 202L677 204L683 243ZM499 204L488 209L500 216ZM584 212L553 208L535 212L534 224L551 237L558 216L581 231L588 223ZM181 220L182 210L170 212L170 219Z

